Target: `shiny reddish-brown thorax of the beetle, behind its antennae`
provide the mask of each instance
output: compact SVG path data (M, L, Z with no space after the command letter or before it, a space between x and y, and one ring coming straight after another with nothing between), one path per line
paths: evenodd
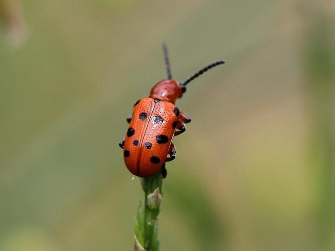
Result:
M174 103L181 97L182 90L179 84L174 80L162 80L152 87L150 97L166 100Z

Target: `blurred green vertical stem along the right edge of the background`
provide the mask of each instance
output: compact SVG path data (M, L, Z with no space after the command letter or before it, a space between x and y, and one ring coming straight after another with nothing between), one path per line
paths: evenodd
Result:
M305 46L309 114L309 159L314 181L315 240L322 250L331 250L335 229L335 134L333 26L322 5L310 6ZM312 183L311 183L312 184ZM316 216L316 217L315 217Z

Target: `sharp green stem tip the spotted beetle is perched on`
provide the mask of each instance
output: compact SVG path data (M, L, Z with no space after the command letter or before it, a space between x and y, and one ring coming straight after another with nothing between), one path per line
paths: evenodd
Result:
M140 202L135 220L135 250L158 251L158 214L162 192L161 171L155 175L142 178L141 184L145 194L144 210Z

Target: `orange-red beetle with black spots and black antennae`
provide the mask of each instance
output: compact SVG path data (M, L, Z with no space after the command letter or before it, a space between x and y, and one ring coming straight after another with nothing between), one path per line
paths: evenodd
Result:
M139 177L150 177L162 169L166 177L165 162L176 158L172 144L174 136L186 131L185 123L191 118L174 104L186 91L186 85L207 70L224 64L220 60L207 65L185 82L172 79L166 44L163 43L167 79L154 85L150 96L134 104L131 116L127 117L129 128L119 146L124 149L124 160L128 170ZM168 155L170 157L168 157Z

